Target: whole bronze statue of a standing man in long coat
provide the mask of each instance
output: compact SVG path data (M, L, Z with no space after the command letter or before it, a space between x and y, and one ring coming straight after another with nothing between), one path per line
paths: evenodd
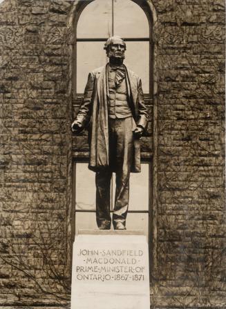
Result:
M140 78L124 66L126 43L110 37L104 49L109 63L88 74L84 101L72 130L78 134L90 124L90 161L96 172L96 219L101 230L111 228L110 185L115 172L113 227L126 229L130 172L140 172L140 137L147 122L147 108Z

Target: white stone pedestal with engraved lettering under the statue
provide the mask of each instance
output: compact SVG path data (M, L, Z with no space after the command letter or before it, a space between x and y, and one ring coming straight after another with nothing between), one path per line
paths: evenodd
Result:
M78 235L72 309L149 309L149 250L143 235Z

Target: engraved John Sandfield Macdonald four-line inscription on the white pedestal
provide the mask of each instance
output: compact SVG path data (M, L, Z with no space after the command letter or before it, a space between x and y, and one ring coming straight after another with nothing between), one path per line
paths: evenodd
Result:
M79 281L144 281L143 250L90 250L77 253L76 279Z

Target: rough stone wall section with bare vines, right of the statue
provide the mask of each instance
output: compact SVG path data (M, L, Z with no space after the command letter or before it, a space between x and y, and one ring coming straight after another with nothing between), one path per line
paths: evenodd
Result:
M225 1L153 3L159 271L153 303L225 308Z

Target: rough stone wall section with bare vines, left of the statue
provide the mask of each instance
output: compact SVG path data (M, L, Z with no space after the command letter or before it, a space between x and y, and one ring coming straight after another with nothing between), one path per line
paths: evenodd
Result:
M72 5L0 4L0 306L70 299L66 22Z

